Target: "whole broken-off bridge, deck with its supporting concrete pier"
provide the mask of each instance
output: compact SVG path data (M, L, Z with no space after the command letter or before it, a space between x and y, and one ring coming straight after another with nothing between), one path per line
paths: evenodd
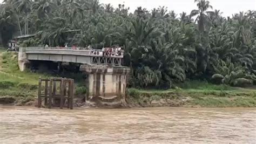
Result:
M124 51L105 56L101 50L83 47L21 47L18 65L21 71L30 61L57 61L79 63L80 71L85 72L87 93L86 102L120 104L125 102L125 90L129 67L122 66Z

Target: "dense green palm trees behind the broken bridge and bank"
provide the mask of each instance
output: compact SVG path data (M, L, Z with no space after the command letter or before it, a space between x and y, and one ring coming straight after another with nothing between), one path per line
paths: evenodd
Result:
M225 18L210 2L195 3L197 10L178 18L165 6L129 13L124 5L114 9L97 0L5 0L0 33L4 44L36 33L23 44L124 46L133 87L170 88L188 79L256 84L256 12Z

